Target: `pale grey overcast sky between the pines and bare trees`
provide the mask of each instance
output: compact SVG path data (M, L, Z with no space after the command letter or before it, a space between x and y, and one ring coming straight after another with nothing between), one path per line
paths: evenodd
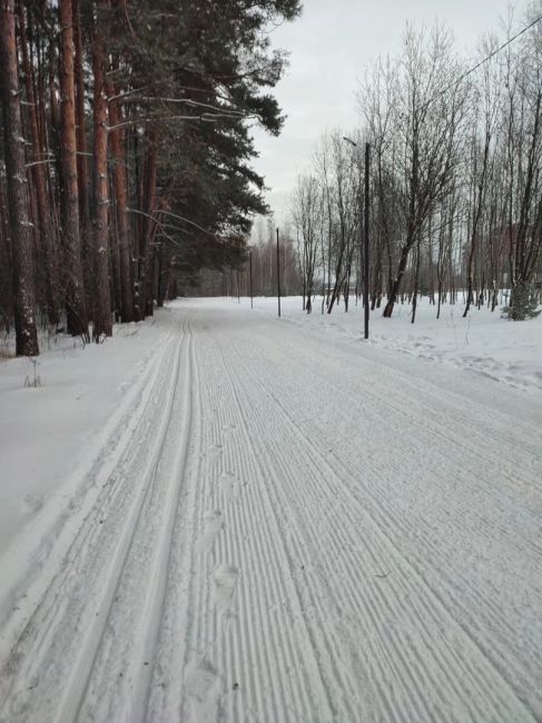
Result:
M396 55L406 22L442 20L465 57L480 37L500 29L509 0L305 0L302 17L273 32L273 47L290 53L290 66L275 89L287 119L278 138L255 131L260 153L256 170L272 187L266 198L282 225L297 175L326 128L357 126L355 93L378 56ZM524 9L520 2L518 17Z

